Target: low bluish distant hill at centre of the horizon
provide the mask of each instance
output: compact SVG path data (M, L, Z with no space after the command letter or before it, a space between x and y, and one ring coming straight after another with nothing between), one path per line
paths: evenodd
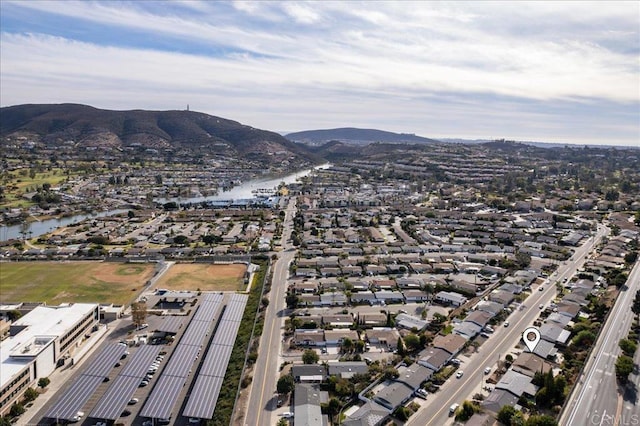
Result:
M329 141L339 141L347 144L383 143L436 143L435 139L423 138L412 133L393 133L376 129L358 129L342 127L338 129L305 130L285 135L293 142L311 145L324 144Z

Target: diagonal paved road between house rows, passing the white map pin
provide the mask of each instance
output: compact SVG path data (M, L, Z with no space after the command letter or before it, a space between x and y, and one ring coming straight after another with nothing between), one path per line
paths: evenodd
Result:
M440 391L429 395L426 404L423 404L423 408L409 419L407 425L441 426L450 424L452 418L449 417L449 407L454 403L461 404L465 399L470 399L472 395L469 392L475 392L475 389L483 383L486 377L484 375L485 367L491 367L492 370L495 370L498 359L504 359L506 354L513 352L513 348L521 339L524 329L532 325L538 317L540 313L538 305L546 305L556 296L554 284L573 276L582 267L586 255L607 232L608 228L600 226L597 236L590 238L576 250L573 256L574 260L561 264L558 270L542 284L543 291L539 291L539 287L535 287L532 294L524 302L527 309L514 311L507 319L510 323L509 327L497 327L495 333L479 348L478 353L464 360L465 362L460 366L460 369L464 371L462 378L450 378L442 385Z

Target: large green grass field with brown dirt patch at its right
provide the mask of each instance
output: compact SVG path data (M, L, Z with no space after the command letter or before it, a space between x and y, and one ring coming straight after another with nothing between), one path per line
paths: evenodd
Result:
M153 276L153 268L138 263L0 263L0 302L126 304Z

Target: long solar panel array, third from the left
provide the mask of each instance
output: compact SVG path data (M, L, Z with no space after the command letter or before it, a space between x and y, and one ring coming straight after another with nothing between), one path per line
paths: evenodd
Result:
M154 419L168 419L187 381L205 337L215 324L222 309L222 293L208 293L200 302L198 310L184 331L180 342L173 350L171 359L154 386L140 415Z

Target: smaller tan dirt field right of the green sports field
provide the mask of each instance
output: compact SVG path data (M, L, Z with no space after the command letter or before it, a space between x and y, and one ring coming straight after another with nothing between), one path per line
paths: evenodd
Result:
M238 291L244 290L247 265L177 263L158 280L156 288L167 290Z

